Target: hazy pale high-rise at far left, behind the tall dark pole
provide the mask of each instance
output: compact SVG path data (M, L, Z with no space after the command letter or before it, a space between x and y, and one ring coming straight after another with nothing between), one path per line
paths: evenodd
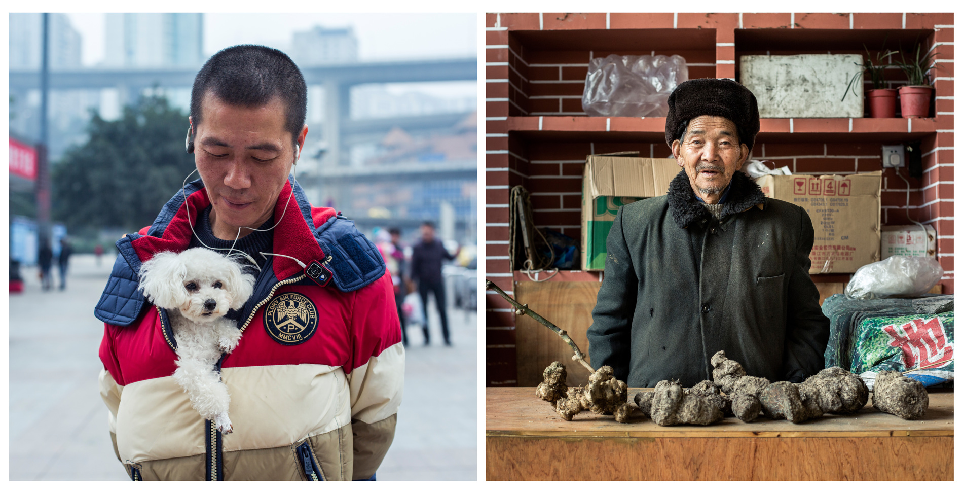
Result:
M40 13L10 14L10 67L39 69ZM70 25L65 13L50 14L50 67L80 66L80 33Z

